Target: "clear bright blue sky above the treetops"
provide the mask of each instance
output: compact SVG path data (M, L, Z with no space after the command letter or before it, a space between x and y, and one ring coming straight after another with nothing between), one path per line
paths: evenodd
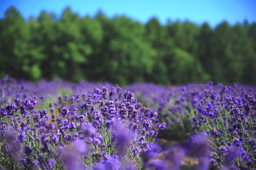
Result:
M100 9L108 17L127 15L146 23L156 16L162 24L167 19L177 19L202 24L208 22L215 27L223 20L230 24L256 22L256 0L0 0L0 18L5 10L14 5L25 19L38 16L41 10L61 15L63 9L71 7L81 16L94 16Z

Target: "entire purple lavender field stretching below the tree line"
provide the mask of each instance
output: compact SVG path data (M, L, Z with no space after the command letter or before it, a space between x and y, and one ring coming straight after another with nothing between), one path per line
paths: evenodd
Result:
M0 169L255 169L256 87L0 81Z

